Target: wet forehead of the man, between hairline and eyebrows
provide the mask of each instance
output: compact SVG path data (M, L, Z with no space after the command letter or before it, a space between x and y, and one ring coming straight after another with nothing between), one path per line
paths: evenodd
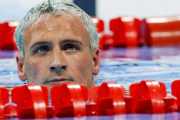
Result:
M45 32L46 31L46 32ZM33 24L27 26L23 40L34 40L40 32L71 32L74 35L88 37L89 35L80 18L71 13L62 13L60 15L44 14ZM66 34L68 34L68 32ZM41 36L42 37L42 36Z

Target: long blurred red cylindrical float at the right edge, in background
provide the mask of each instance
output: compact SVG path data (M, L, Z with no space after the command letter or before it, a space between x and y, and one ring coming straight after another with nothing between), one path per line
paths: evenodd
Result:
M180 44L180 16L154 17L143 20L143 39L148 46Z

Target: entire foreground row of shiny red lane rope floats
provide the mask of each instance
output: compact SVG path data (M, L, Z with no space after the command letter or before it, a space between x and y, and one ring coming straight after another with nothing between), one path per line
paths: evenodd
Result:
M85 86L65 83L53 86L49 106L48 90L45 86L24 85L11 91L0 88L0 119L5 118L53 118L108 116L127 113L167 113L180 111L180 80L172 83L172 95L166 97L166 87L162 82L143 80L131 84L130 96L126 96L123 86L116 82L105 82L88 90ZM88 100L89 95L89 100ZM16 104L16 106L15 106Z

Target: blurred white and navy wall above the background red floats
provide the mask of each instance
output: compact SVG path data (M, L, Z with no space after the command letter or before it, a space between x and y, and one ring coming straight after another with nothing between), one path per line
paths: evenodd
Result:
M20 21L27 11L43 0L0 0L0 23ZM69 0L105 22L119 16L139 19L180 14L180 0Z

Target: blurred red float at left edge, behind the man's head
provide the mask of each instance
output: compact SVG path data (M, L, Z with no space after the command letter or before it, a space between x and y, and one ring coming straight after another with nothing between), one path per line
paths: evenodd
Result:
M18 50L14 38L15 28L19 22L5 22L0 24L0 49Z

